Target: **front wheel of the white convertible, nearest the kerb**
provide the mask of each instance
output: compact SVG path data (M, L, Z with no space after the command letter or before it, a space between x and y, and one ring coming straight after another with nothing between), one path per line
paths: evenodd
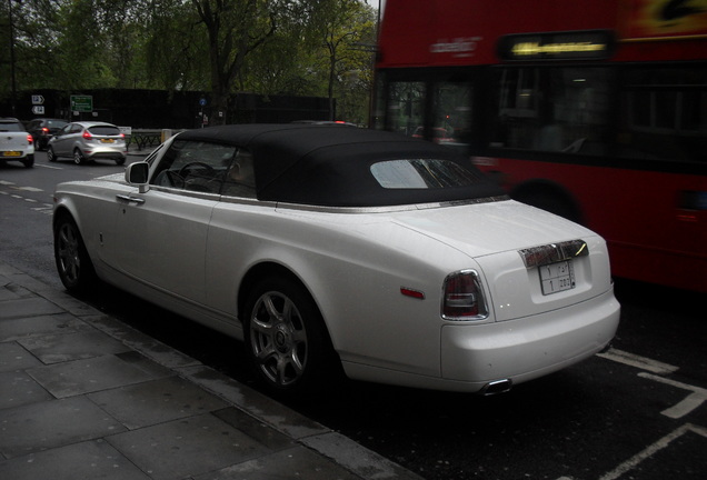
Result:
M61 283L72 292L87 292L97 277L76 221L60 214L54 222L54 260Z

